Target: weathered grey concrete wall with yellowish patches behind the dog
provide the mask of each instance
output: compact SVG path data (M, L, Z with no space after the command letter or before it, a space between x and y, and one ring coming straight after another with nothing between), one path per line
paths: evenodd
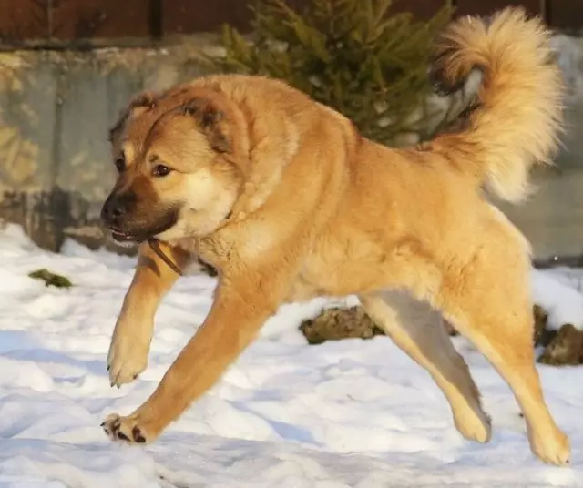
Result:
M503 207L537 259L583 256L583 41L555 39L569 85L568 134L557 169L537 174L526 204ZM98 213L114 178L107 129L128 97L207 72L210 36L178 46L82 53L0 53L0 218L46 249L74 238L104 245ZM579 135L581 133L581 135ZM109 246L109 244L107 244Z

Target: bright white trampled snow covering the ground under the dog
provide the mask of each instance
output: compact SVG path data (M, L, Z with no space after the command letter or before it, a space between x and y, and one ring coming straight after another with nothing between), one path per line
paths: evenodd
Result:
M540 367L547 400L571 437L573 465L529 452L506 384L461 339L492 415L492 442L455 431L440 391L387 338L307 346L297 330L323 301L286 306L202 400L146 448L107 441L99 423L130 412L210 307L214 280L181 280L157 321L150 365L111 389L105 359L134 259L67 243L36 249L0 230L0 487L377 488L583 486L583 368ZM47 267L70 290L27 278ZM583 325L581 274L533 272L551 319Z

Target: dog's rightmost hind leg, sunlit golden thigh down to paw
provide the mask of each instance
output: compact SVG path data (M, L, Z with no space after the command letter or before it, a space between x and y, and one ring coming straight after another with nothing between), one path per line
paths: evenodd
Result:
M547 463L568 464L568 438L548 411L535 368L529 270L515 239L507 232L490 233L471 262L446 277L435 305L514 392L531 450Z

